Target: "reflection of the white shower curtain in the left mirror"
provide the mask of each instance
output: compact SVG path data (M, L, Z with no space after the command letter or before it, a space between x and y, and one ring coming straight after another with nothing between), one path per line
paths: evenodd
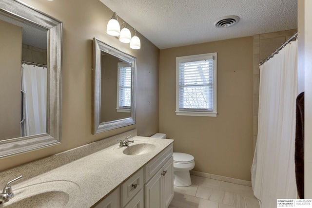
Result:
M47 68L21 65L21 90L25 91L25 120L21 123L21 136L46 132Z

